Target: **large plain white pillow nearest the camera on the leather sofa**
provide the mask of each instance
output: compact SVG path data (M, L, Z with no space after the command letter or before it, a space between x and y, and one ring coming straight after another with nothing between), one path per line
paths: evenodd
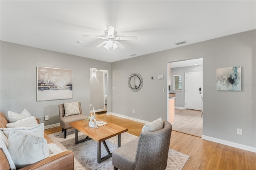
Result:
M49 147L44 137L12 129L8 138L8 150L16 168L34 164L49 156Z

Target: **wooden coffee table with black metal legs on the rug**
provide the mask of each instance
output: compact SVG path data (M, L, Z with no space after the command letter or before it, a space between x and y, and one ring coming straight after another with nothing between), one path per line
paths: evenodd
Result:
M97 121L104 121L102 119L96 119ZM118 135L118 147L121 146L121 133L128 131L128 128L121 127L119 125L116 125L114 123L109 123L107 121L104 121L108 124L103 125L99 128L91 128L89 127L88 123L84 123L84 120L71 122L70 125L75 128L75 142L76 144L80 142L84 142L89 139L93 139L96 142L98 142L98 153L97 153L97 162L100 163L112 156L112 153L110 153L108 146L105 142L106 139L112 138L113 136ZM86 138L82 140L78 140L78 130L86 135ZM104 144L108 155L101 158L101 142Z

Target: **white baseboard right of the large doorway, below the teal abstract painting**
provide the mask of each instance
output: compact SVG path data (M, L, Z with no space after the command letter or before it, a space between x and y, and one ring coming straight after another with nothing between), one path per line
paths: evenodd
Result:
M243 144L239 144L239 143L234 143L234 142L230 142L230 141L227 141L227 140L213 138L213 137L205 136L205 135L202 135L202 139L209 140L209 141L216 142L216 143L220 143L220 144L224 144L224 145L227 145L227 146L232 146L234 148L248 150L250 152L256 152L256 148L254 148L252 146L247 146L247 145L243 145Z

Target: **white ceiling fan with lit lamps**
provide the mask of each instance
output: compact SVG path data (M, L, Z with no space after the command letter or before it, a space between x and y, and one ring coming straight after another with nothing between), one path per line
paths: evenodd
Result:
M136 36L131 36L131 37L116 37L116 30L114 30L113 26L107 25L107 30L104 31L105 37L96 37L96 36L87 36L83 35L84 37L93 37L93 38L101 38L106 41L103 43L100 43L97 47L105 47L106 49L116 49L117 47L120 47L121 49L124 49L125 46L122 45L118 41L123 41L123 40L138 40Z

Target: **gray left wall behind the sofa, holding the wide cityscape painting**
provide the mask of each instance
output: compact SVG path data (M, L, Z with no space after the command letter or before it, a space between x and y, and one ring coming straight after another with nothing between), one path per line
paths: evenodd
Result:
M73 99L36 101L36 66L73 70ZM58 104L80 101L82 113L90 115L90 67L111 70L108 62L1 41L1 112L27 108L35 117L49 115L42 123L52 125L59 123Z

